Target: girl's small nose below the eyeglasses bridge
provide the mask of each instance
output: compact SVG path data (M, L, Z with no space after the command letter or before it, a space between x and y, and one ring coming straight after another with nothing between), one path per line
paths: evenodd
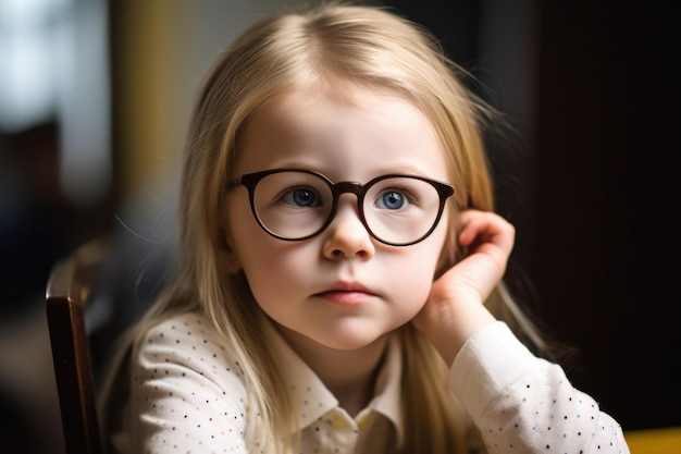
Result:
M326 258L368 260L375 254L373 238L359 219L357 198L351 194L340 196L335 217L323 235Z

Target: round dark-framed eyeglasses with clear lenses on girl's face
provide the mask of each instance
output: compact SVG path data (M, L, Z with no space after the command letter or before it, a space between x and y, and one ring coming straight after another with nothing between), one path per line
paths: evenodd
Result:
M357 196L359 219L371 236L392 246L408 246L437 226L454 187L423 176L388 174L367 184L332 183L321 173L273 169L242 175L230 183L248 189L260 226L284 241L310 238L331 224L342 194Z

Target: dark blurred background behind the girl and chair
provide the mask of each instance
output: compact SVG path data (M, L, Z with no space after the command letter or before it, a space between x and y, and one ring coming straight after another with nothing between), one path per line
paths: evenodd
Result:
M626 430L681 426L677 30L668 2L373 1L429 27L506 112L490 137L511 286ZM221 50L276 0L0 0L0 446L61 453L50 268L114 244L88 322L135 318L174 248L179 156ZM99 323L99 324L98 324ZM102 343L103 344L103 343ZM94 340L96 366L107 355Z

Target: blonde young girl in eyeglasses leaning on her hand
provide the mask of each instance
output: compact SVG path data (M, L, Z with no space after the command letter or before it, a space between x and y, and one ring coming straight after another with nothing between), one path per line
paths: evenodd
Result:
M109 449L629 452L516 338L542 347L502 285L493 112L457 73L370 7L265 20L221 56L187 142L178 275L104 391Z

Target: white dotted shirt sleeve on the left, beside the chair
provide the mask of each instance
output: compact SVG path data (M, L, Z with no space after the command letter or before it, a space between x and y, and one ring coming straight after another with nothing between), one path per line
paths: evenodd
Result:
M147 333L131 365L133 452L247 453L242 370L216 341L196 316Z

